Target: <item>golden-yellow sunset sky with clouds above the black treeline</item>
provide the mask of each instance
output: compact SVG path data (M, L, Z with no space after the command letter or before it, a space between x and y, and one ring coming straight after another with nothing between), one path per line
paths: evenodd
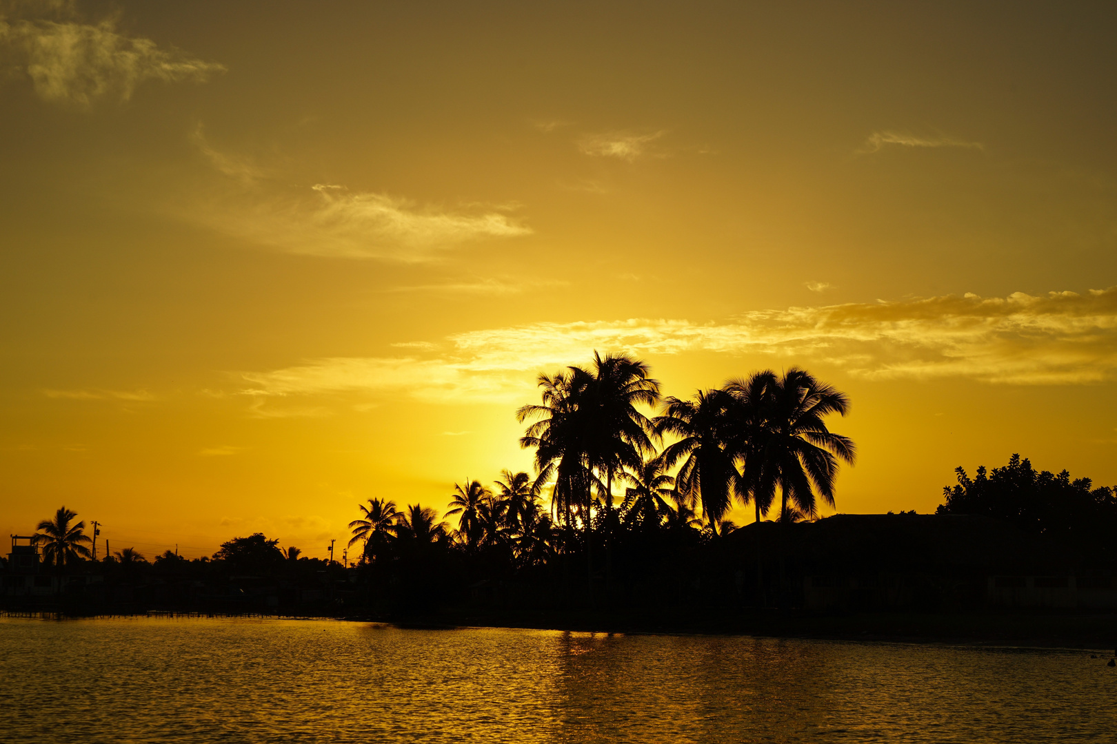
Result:
M594 349L848 392L842 512L1014 452L1115 483L1114 38L1108 2L3 2L0 530L322 555L528 467L514 409Z

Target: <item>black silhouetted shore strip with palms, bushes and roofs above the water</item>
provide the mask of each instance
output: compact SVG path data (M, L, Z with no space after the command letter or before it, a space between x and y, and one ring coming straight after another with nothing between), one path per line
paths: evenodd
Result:
M958 468L935 514L819 519L856 447L828 425L849 399L805 370L661 398L645 363L595 356L540 388L516 412L534 473L467 479L443 510L369 500L352 561L260 533L195 560L94 560L61 508L16 541L2 607L1114 645L1114 489L1013 455ZM727 521L734 503L754 521Z

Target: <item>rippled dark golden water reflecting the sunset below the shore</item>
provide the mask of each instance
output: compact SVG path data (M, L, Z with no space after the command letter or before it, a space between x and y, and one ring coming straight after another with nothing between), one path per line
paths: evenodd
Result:
M1081 651L0 619L3 742L1100 742L1115 693Z

